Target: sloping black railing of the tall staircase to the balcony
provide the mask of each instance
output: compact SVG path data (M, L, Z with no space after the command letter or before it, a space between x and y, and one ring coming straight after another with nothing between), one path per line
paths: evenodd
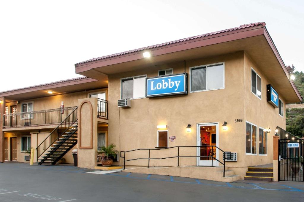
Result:
M36 148L37 150L37 160L38 158L56 142L61 135L71 127L77 119L77 109L76 107L50 134L45 138L40 145Z

